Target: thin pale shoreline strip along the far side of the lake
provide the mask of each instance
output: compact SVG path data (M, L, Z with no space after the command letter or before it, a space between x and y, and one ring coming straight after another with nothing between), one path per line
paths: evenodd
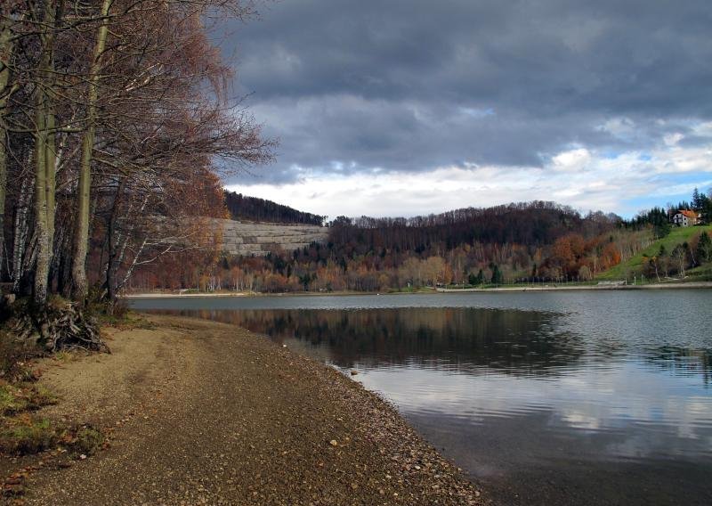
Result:
M279 293L225 291L225 292L190 292L190 293L166 293L166 292L145 292L130 293L122 298L231 298L231 297L315 297L315 296L350 296L350 295L403 295L403 294L424 294L424 293L461 293L461 292L528 292L528 291L611 291L611 290L709 290L712 289L712 282L670 282L651 284L601 284L601 285L567 285L551 283L538 286L513 286L513 287L493 287L493 288L437 288L435 290L419 291L295 291Z

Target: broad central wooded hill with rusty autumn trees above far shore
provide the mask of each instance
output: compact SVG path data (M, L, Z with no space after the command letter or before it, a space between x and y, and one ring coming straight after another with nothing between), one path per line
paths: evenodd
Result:
M346 218L325 244L266 257L223 255L192 284L162 266L137 287L200 290L391 290L511 282L589 281L651 242L616 215L535 201L413 218Z

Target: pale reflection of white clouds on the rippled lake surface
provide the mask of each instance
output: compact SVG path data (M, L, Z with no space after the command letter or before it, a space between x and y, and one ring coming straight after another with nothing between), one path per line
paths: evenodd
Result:
M588 446L597 458L712 456L712 398L696 395L699 386L690 378L636 363L547 380L404 367L359 378L404 412L457 420L458 426L522 417L531 420L528 430L537 437L578 434L597 441Z

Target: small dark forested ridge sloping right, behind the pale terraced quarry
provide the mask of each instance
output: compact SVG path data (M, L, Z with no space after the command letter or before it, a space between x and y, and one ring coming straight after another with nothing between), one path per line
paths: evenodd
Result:
M326 219L326 216L304 213L271 200L247 197L236 192L225 192L225 205L233 220L322 225Z

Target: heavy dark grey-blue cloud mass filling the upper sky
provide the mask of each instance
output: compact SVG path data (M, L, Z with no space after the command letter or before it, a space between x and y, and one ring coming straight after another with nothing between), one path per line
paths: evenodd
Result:
M267 181L644 151L712 117L708 0L284 0L233 28Z

